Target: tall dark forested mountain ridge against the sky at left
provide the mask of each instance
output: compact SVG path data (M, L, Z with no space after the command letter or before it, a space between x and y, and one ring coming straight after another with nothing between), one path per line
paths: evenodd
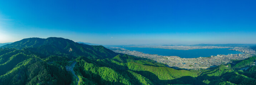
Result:
M12 44L1 46L2 48L25 49L45 58L50 55L66 56L70 59L77 56L87 56L90 59L104 59L118 55L103 46L91 46L74 42L69 39L50 37L47 39L27 38Z

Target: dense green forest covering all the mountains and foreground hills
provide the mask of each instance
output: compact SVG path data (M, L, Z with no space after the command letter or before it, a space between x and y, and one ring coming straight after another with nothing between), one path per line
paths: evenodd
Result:
M256 57L177 70L63 38L28 38L0 48L0 85L256 85ZM66 70L73 63L79 79Z

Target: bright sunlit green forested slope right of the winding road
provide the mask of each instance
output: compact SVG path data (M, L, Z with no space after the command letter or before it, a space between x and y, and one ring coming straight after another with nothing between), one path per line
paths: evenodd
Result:
M81 56L76 61L78 61L78 65L74 71L80 78L80 85L88 83L100 85L189 84L187 81L182 81L182 78L187 76L192 84L203 84L197 82L195 77L198 73L196 71L176 70L161 63L129 55L117 55L112 59L97 61Z

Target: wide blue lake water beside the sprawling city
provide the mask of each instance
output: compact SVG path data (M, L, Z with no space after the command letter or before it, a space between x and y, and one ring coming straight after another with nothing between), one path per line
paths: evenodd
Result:
M147 54L158 54L161 56L179 56L181 58L197 58L210 57L228 54L239 54L242 52L225 49L193 49L193 50L171 50L171 49L156 49L156 48L139 48L139 47L122 47L131 51L139 51Z

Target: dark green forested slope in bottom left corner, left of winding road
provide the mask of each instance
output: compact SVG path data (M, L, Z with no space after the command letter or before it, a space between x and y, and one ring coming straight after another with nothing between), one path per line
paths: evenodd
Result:
M65 67L31 57L1 75L0 85L68 85L72 82L70 79L72 76Z

